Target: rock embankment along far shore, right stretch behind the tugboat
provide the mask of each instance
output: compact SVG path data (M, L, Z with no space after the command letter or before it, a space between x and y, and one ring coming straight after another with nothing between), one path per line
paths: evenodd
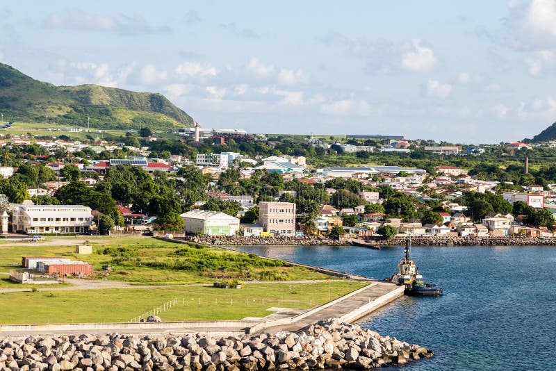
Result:
M381 246L403 246L405 237L395 237L390 240L370 240ZM549 237L441 237L423 236L411 237L411 245L414 246L533 246L533 245L556 245L556 238Z

